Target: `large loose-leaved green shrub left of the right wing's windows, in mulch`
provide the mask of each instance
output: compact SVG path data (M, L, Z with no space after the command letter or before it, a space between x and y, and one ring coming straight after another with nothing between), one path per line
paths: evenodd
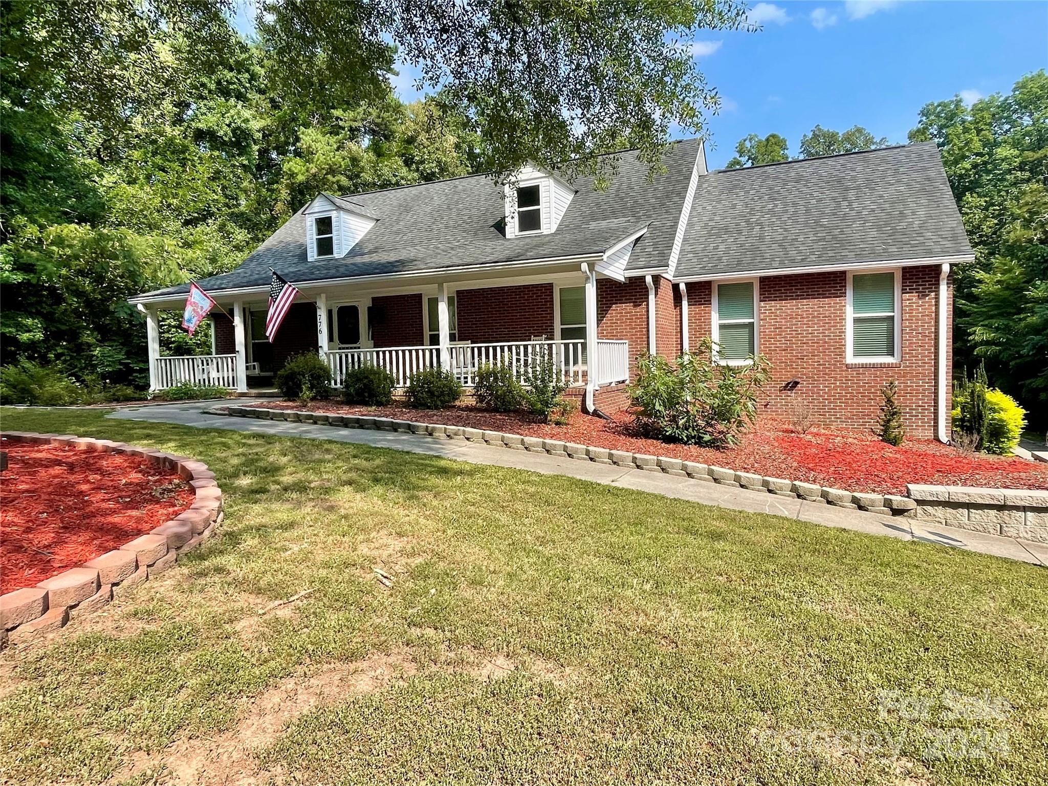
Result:
M630 386L636 424L668 442L738 444L739 434L757 417L757 397L769 376L770 364L763 355L745 366L714 363L708 337L674 364L643 354L637 359L637 380Z

